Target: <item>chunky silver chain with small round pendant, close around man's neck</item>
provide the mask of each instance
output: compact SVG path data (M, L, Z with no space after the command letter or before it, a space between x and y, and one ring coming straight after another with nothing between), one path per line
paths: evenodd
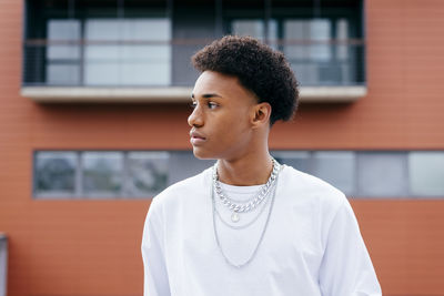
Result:
M273 185L274 181L276 180L279 170L280 170L280 164L274 160L273 157L271 159L273 162L273 170L270 174L269 180L259 190L258 195L253 196L251 200L239 203L239 201L234 201L230 197L226 196L226 194L223 193L222 187L219 182L219 176L218 176L218 162L214 164L213 167L213 186L215 188L215 193L218 194L219 198L222 201L222 204L226 206L230 211L232 211L231 215L231 221L236 223L240 221L240 213L248 213L253 211L254 208L260 205L263 200L269 195L269 191L271 186Z

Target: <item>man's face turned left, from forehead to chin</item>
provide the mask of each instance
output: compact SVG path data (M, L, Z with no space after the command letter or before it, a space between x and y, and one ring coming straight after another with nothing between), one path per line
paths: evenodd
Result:
M198 159L232 160L249 151L258 101L235 76L204 71L192 93L190 142Z

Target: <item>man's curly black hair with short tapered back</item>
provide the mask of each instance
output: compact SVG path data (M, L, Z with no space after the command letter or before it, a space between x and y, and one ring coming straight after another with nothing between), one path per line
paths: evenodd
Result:
M271 125L289 121L297 109L297 81L284 54L254 38L225 35L191 59L196 70L236 76L260 103L270 103Z

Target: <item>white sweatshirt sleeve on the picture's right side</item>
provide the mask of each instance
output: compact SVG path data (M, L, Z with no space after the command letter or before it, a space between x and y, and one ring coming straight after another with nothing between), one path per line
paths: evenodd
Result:
M382 295L356 217L345 197L330 226L320 286L323 296Z

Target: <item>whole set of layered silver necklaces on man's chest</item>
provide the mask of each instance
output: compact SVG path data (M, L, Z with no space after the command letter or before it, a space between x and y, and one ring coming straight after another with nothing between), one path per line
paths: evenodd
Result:
M273 203L274 203L274 197L275 197L275 192L276 192L276 183L278 183L278 176L279 173L281 171L281 165L276 162L276 160L272 159L273 162L273 170L272 173L270 174L270 177L268 180L268 182L261 186L261 188L259 190L259 192L251 197L248 201L244 202L240 202L240 201L235 201L233 198L230 198L226 193L224 193L222 191L222 187L220 185L219 182L219 176L218 176L218 163L214 164L213 166L213 174L212 174L212 186L211 186L211 198L212 198L212 204L213 204L213 228L214 228L214 236L215 236L215 241L218 244L218 248L221 252L223 258L225 259L225 262L236 268L241 268L245 265L248 265L249 263L251 263L253 261L253 258L256 255L256 252L259 249L259 246L261 245L261 242L263 239L263 236L265 234L265 229L269 225L269 221L270 221L270 216L271 216L271 212L273 208ZM273 191L271 198L271 205L269 208L269 213L266 216L266 221L264 224L264 227L261 232L261 235L259 237L258 244L253 249L253 253L251 254L251 256L249 258L246 258L244 262L242 263L233 263L224 253L224 251L222 249L221 243L220 243L220 238L219 238L219 233L218 233L218 227L215 225L215 215L218 213L216 208L215 208L215 198L214 198L214 192L218 195L218 197L220 198L220 201L222 202L222 204L224 206L226 206L231 212L231 221L233 223L238 223L241 220L241 214L243 213L249 213L254 211L261 203L263 203L268 196L270 196L270 192ZM263 208L265 207L265 205L263 206ZM259 215L262 213L263 211L260 211L260 213L258 214L256 218L259 217ZM218 213L219 214L219 213ZM220 216L220 218L222 220L222 217ZM252 223L254 223L254 221L256 220L254 218L251 223L249 223L246 226L251 225ZM223 222L223 220L222 220ZM225 225L229 225L228 223L224 223ZM230 226L230 225L229 225ZM244 227L246 227L244 226ZM240 229L243 227L232 227L231 228L234 229Z

